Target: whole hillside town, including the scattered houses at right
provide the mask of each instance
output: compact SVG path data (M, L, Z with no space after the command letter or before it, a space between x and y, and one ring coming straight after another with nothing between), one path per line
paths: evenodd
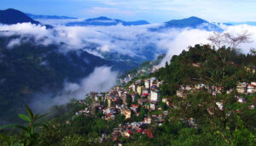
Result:
M129 75L130 76L130 75ZM86 104L88 107L84 110L79 110L76 115L90 116L95 115L96 112L102 113L102 118L106 121L114 121L117 115L123 115L125 120L130 120L124 125L113 128L113 132L102 133L102 138L99 142L107 141L109 138L113 141L118 141L118 138L131 138L134 134L146 135L148 138L154 138L152 131L158 126L162 126L165 122L165 117L172 108L177 108L172 103L172 99L168 97L161 97L160 85L163 81L155 77L140 79L131 82L129 87L113 87L108 93L90 93L91 104L84 100L79 100L80 104ZM212 95L218 95L221 92L220 87L209 87L206 84L197 84L194 86L180 86L177 90L177 97L187 98L189 94L206 90ZM228 91L230 93L232 91ZM239 82L236 87L236 93L252 94L256 93L256 81L246 83ZM237 94L237 103L247 102L247 98L243 98ZM254 98L255 100L256 98ZM221 101L217 102L219 110L223 110ZM254 109L252 104L250 109ZM148 111L148 115L143 112ZM209 115L214 115L211 109L207 110ZM142 117L142 121L136 121L137 118ZM193 117L184 120L189 126L196 128L196 123Z

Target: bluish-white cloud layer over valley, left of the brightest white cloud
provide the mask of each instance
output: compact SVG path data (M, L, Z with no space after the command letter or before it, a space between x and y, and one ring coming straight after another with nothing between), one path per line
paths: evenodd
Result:
M44 26L24 23L2 25L0 31L7 31L2 33L2 35L7 36L21 35L20 39L26 36L34 36L36 42L42 45L64 42L66 44L66 48L62 48L64 52L76 49L89 49L91 51L92 48L90 47L93 43L96 44L96 50L94 51L98 51L99 54L117 52L131 57L143 57L140 55L143 54L144 48L160 40L161 36L165 36L166 32L160 34L159 32L148 31L148 28L154 26L156 25L86 27L59 25L51 30ZM15 40L15 42L15 45L18 45L18 40ZM13 45L10 44L9 47L13 47Z

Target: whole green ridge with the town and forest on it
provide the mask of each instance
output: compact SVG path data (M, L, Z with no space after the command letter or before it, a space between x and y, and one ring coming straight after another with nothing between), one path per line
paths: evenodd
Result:
M131 86L114 87L108 93L92 93L85 100L54 107L53 119L38 131L38 143L254 145L255 89L250 93L249 86L245 86L241 92L240 84L256 80L255 61L253 51L244 55L231 48L195 45L173 56L165 68L131 81ZM156 92L160 88L156 103L150 102L151 96L148 99L141 94L148 80L158 80L148 89ZM178 92L183 92L182 96ZM142 101L145 104L140 104ZM125 111L139 109L130 112L129 117L114 108L119 106ZM106 115L104 110L108 109L115 115ZM134 122L143 124L134 131L129 127ZM11 139L15 143L19 138L15 135Z

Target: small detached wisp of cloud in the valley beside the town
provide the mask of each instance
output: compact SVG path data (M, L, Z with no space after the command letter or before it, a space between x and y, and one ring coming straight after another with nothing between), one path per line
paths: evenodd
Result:
M118 72L111 70L111 67L97 67L79 83L65 82L59 93L37 93L30 106L33 110L44 113L53 105L67 104L72 98L84 99L85 95L92 91L107 92L115 85L117 76Z

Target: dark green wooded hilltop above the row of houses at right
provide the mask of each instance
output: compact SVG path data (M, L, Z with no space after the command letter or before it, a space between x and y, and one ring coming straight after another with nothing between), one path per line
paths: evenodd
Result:
M255 65L255 53L245 55L231 48L217 50L209 45L195 45L189 51L172 56L171 64L166 63L154 76L164 81L161 88L164 95L176 94L181 85L198 83L221 87L225 93L234 89L239 81L256 81Z

